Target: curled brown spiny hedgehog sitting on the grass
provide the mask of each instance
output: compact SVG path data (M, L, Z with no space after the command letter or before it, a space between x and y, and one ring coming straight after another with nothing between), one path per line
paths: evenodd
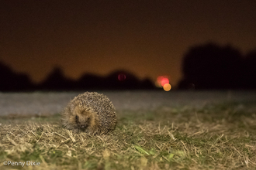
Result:
M116 123L112 102L96 92L79 94L61 112L62 126L74 133L107 134L116 128Z

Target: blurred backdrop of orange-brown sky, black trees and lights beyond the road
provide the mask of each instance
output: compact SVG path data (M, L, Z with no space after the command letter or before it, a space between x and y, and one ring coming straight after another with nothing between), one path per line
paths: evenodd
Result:
M255 8L2 0L0 91L255 89Z

